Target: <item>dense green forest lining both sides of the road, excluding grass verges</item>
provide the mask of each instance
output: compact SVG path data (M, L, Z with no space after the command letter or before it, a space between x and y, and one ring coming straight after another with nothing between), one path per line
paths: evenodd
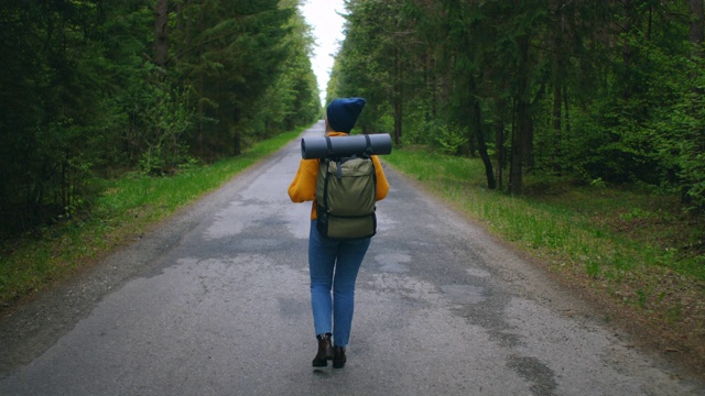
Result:
M242 153L321 113L300 0L0 4L0 237L90 207L100 180ZM346 0L327 99L358 131L528 175L705 208L703 1Z

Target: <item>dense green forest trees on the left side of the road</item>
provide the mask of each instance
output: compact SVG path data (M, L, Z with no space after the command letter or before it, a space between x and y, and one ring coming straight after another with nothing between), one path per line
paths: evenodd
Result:
M321 112L297 0L0 2L0 239Z

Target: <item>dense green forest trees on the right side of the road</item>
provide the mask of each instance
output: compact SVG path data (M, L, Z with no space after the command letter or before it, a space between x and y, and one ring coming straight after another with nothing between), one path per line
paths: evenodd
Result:
M347 0L328 97L399 145L705 208L703 0Z

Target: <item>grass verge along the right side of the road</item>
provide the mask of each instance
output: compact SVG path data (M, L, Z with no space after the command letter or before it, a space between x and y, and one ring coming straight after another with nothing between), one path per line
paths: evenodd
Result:
M398 170L599 304L642 341L705 369L705 219L679 197L528 176L522 197L486 188L479 160L425 147L384 157Z

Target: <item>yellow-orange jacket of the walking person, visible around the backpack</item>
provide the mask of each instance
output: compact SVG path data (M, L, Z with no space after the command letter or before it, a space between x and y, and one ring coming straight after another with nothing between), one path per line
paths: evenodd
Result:
M328 136L345 136L344 132L329 132ZM384 176L382 164L379 162L377 155L372 155L372 163L375 164L375 174L377 176L377 200L382 200L389 193L389 182ZM289 186L289 197L293 202L313 201L311 208L311 220L316 219L316 179L318 177L318 164L319 160L301 160L299 164L299 170L294 180Z

